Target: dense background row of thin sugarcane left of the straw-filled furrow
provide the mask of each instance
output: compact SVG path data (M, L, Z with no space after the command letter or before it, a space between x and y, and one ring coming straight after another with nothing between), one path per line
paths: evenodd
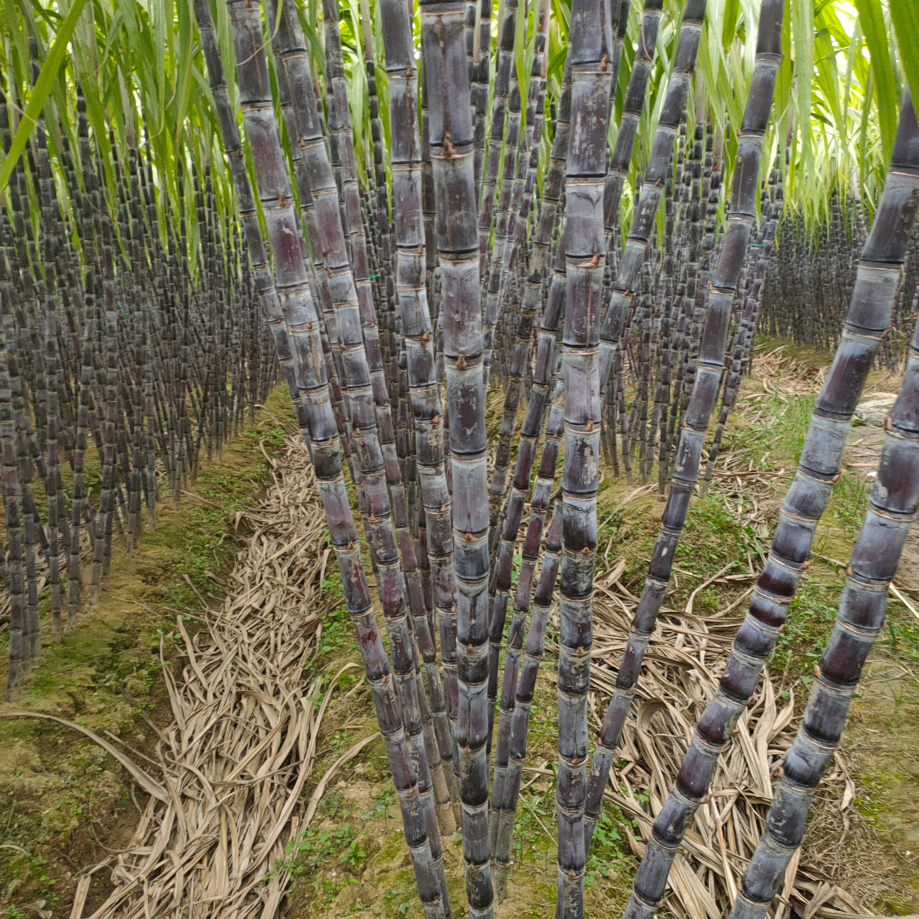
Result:
M37 78L34 40L31 59ZM14 108L4 91L5 152ZM60 639L96 602L113 538L130 553L145 516L153 526L157 505L178 501L202 447L219 453L277 375L237 224L217 209L210 174L187 176L164 237L149 148L119 158L112 134L109 186L80 95L75 110L79 149L61 131L58 180L40 119L0 199L8 692L40 659L42 582Z

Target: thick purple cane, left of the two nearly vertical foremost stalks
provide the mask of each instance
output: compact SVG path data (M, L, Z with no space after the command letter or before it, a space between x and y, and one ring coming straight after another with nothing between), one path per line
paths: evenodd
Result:
M459 794L471 919L491 919L488 835L488 471L474 146L462 0L422 0L422 53L443 278L453 476ZM406 49L406 51L408 51ZM426 510L426 508L425 508ZM431 519L427 519L428 529Z

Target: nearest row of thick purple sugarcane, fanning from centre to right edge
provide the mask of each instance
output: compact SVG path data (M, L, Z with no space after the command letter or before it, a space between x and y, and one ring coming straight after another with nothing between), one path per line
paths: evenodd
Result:
M458 825L470 916L491 916L504 895L528 718L557 601L557 912L579 919L593 828L642 655L689 501L700 478L705 488L717 457L714 441L703 471L710 417L718 405L720 438L768 285L781 164L770 170L762 151L783 53L784 5L762 4L751 88L741 124L732 129L732 172L722 183L718 132L709 128L696 74L706 2L686 3L625 227L620 202L659 44L661 0L635 11L639 41L628 79L621 74L627 85L612 151L607 135L621 65L630 57L630 0L574 0L550 126L548 4L532 10L532 70L519 74L516 35L518 25L526 30L526 5L505 0L493 58L489 0L421 0L420 51L413 7L379 0L388 151L369 15L362 19L371 130L361 149L334 0L323 2L322 66L295 6L217 2L226 7L234 74L225 69L230 62L221 56L226 49L209 0L196 0L194 12L248 250L247 277L311 451L425 916L451 914L441 838ZM548 156L540 156L544 130ZM908 97L893 163L777 538L719 693L654 824L630 915L650 916L660 905L715 759L777 640L838 476L858 391L890 324L919 183L919 129ZM104 221L102 230L105 238ZM117 379L118 361L112 363ZM505 388L491 477L490 380ZM907 384L915 385L911 373ZM822 665L825 678L815 682L800 743L789 752L811 771L787 762L735 913L765 914L879 630L897 540L919 488L910 398L907 392L902 411L891 415L890 455L887 447L884 454L891 468L882 465L883 490L872 494L848 605ZM637 446L640 474L649 476L656 453L667 496L618 688L589 757L596 497L603 450L616 455L617 420L626 470ZM553 494L562 445L561 485Z

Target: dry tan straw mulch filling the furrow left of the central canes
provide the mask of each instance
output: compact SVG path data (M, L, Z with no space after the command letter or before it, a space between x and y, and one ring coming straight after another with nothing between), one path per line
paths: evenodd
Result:
M202 599L194 635L176 620L186 664L176 677L164 662L175 720L156 731L153 757L131 760L89 732L149 798L128 847L82 876L72 919L84 912L91 875L103 869L114 890L92 919L268 919L278 911L289 879L284 847L312 819L328 778L301 812L337 680L303 679L322 628L330 550L300 437L289 438L272 467L265 499L234 521L251 536L229 596L219 609Z

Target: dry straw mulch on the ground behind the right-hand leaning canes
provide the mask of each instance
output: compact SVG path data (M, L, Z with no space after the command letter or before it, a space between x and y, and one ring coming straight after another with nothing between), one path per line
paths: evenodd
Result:
M594 604L594 652L590 697L592 720L598 726L616 683L616 667L637 598L619 583L625 569L619 562L597 582ZM695 596L709 584L753 584L752 571L722 571L699 584L686 607L664 607L644 658L644 668L630 719L619 744L619 760L611 772L607 798L639 834L629 832L632 852L641 857L654 817L673 788L692 729L715 691L734 632L745 612L749 590L716 613L693 611ZM699 808L676 857L666 909L689 919L722 919L736 899L747 860L763 832L772 800L772 781L797 728L795 698L780 700L768 674L760 681L752 705L738 724L732 743L720 757L709 799ZM851 808L855 786L837 755L834 771L823 786L836 789L835 806ZM792 860L779 891L776 919L789 907L803 917L857 919L873 915L829 882L816 865Z

